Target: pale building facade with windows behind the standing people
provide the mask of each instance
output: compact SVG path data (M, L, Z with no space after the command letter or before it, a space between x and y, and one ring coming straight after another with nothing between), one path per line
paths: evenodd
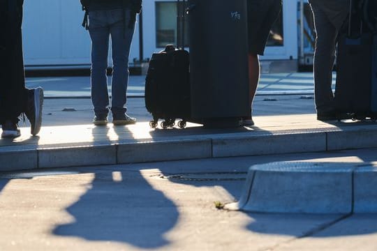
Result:
M225 1L225 0L219 0ZM262 60L296 60L299 40L299 0L283 0L283 11L274 27ZM24 1L24 61L27 68L89 68L90 38L82 26L79 0ZM142 29L137 22L130 62L143 60L165 44L176 42L176 1L144 0ZM140 34L142 31L142 47ZM189 35L188 35L189 36ZM226 48L224 48L226 50ZM111 60L109 56L109 63Z

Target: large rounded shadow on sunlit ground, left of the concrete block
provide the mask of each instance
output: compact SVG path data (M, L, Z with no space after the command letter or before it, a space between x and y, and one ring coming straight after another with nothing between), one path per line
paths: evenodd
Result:
M117 241L139 248L169 244L164 235L177 222L177 207L162 192L151 188L140 172L123 175L114 169L98 171L91 185L66 208L74 222L56 227L53 234Z

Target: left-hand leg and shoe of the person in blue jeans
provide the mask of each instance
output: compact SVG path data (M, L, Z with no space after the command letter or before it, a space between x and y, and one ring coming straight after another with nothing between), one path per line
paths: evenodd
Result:
M108 50L110 28L106 10L89 12L91 38L91 102L94 106L94 124L108 123Z

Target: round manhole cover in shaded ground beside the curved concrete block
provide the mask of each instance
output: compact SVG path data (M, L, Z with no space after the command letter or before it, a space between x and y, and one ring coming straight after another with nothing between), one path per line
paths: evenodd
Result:
M193 174L173 174L161 176L169 180L179 181L244 181L247 172L214 172L214 173L193 173Z

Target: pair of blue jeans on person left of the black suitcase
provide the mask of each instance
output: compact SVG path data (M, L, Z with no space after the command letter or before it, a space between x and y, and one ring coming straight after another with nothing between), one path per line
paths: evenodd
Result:
M124 22L126 18L126 22ZM91 38L91 101L96 115L107 115L109 106L108 68L109 40L112 41L112 114L126 112L128 56L134 26L129 27L131 11L94 10L89 12Z

